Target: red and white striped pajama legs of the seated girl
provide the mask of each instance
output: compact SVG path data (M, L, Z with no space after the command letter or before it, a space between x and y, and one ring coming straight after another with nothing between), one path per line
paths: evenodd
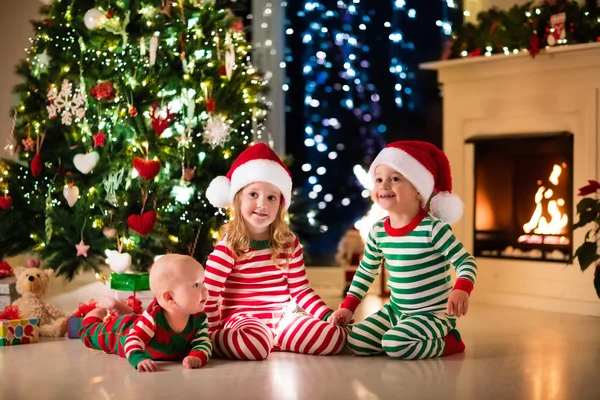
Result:
M347 337L347 328L305 314L284 318L276 329L256 317L234 315L211 334L215 353L237 360L264 360L271 351L333 355L342 351Z

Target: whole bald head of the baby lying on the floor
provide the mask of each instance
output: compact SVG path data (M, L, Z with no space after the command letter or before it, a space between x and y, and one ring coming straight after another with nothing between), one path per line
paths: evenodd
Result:
M150 268L150 290L158 304L169 311L196 314L204 310L208 291L204 268L192 257L167 254Z

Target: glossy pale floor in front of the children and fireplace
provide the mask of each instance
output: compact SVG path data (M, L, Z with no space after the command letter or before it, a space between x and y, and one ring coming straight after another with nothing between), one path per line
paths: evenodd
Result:
M368 297L358 319L380 305ZM0 347L0 399L600 399L600 319L473 305L458 328L467 350L443 359L273 353L191 371L161 363L153 374L78 340L43 340Z

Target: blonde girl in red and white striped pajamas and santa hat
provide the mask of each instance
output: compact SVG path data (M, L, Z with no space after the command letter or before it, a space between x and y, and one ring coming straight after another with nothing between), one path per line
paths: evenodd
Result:
M348 331L327 322L333 311L310 287L302 247L285 222L291 192L290 172L264 143L246 149L206 191L233 214L206 263L204 311L220 356L331 355L346 344Z

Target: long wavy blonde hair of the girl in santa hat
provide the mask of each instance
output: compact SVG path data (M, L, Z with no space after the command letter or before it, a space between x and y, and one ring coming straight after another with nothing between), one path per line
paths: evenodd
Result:
M242 189L243 190L243 189ZM250 248L250 232L241 212L242 190L236 193L233 205L229 207L230 221L221 227L221 239L227 237L227 244L238 259L247 257ZM287 212L282 205L277 210L275 221L269 226L269 248L273 250L271 259L278 268L287 268L293 249L295 235L286 222ZM279 263L280 255L284 255L285 263Z

